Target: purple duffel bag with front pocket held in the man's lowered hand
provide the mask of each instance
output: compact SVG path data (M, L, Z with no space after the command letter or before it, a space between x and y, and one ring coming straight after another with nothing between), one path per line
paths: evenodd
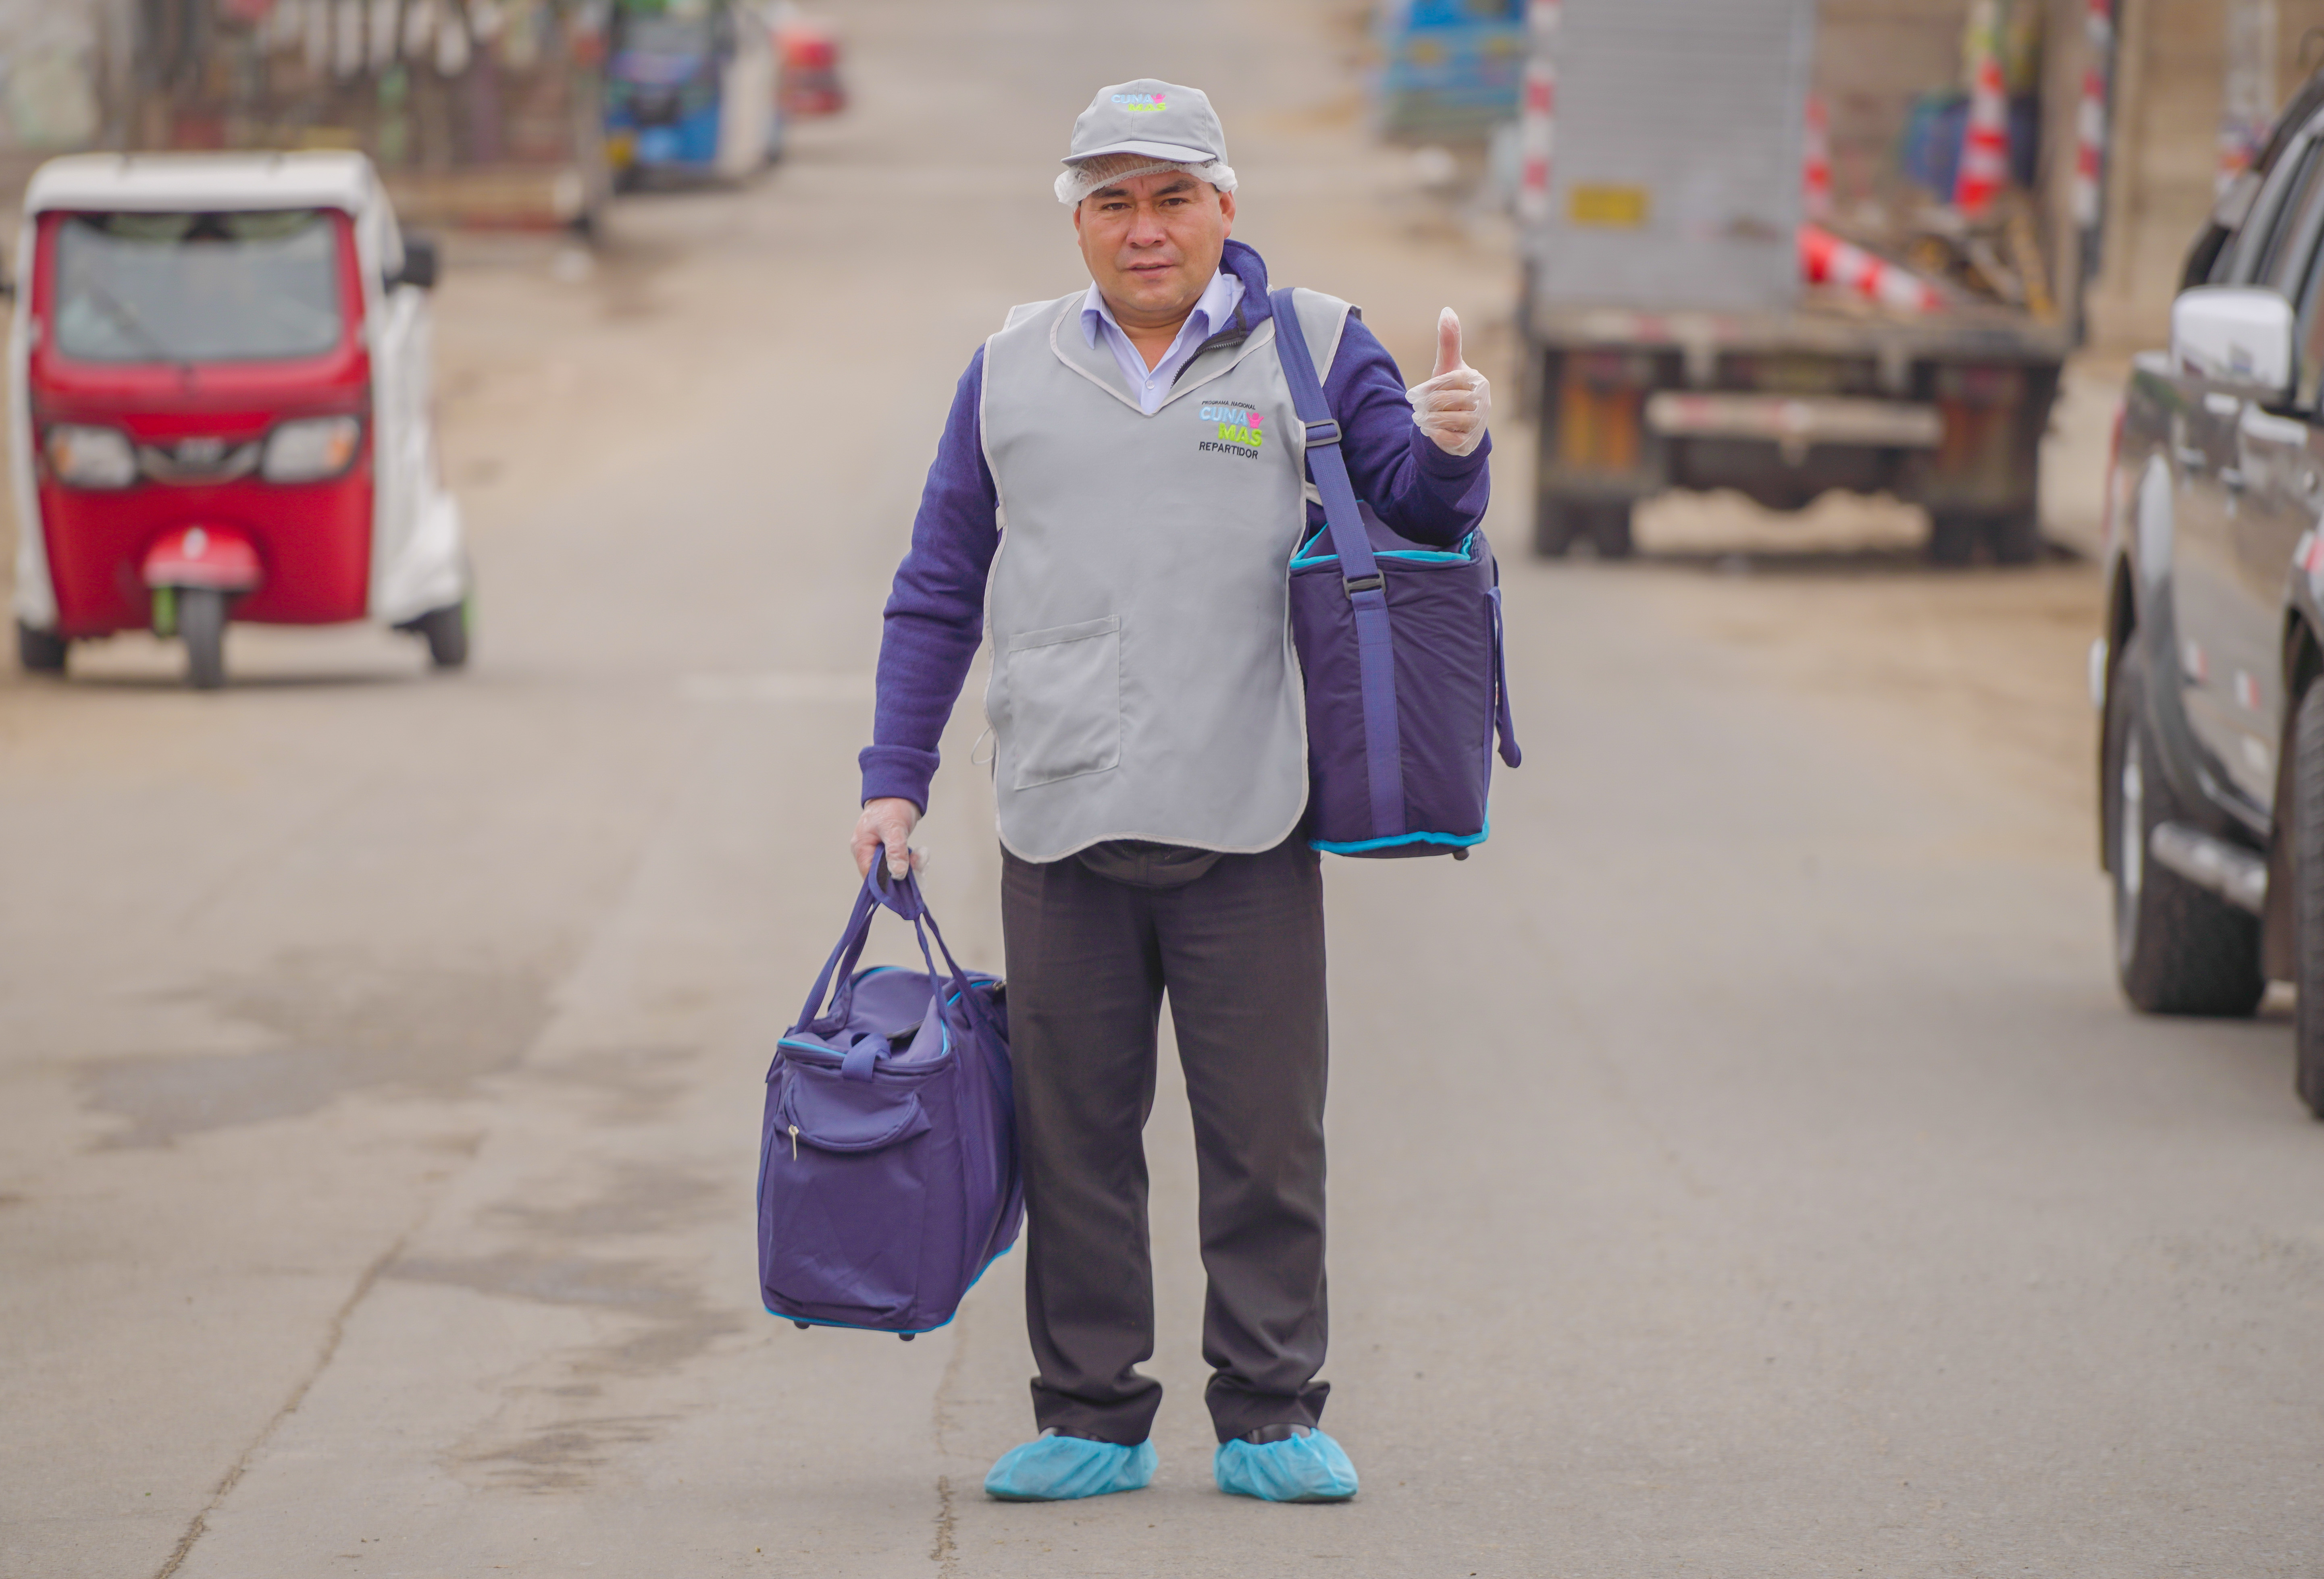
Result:
M883 906L911 922L925 973L855 968ZM962 971L918 880L888 880L874 861L767 1070L758 1154L767 1312L909 1340L953 1319L1023 1217L1002 982Z

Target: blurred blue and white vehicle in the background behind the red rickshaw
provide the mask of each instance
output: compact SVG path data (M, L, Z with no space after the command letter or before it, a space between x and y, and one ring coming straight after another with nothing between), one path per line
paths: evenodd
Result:
M732 0L614 12L604 72L607 160L623 186L739 181L783 151L767 19Z

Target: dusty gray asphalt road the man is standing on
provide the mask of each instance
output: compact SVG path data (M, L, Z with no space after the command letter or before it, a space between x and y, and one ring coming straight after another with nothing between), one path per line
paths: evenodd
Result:
M758 1310L878 599L969 351L1076 283L1071 114L1206 84L1278 279L1408 367L1443 302L1506 346L1346 12L858 0L855 109L772 179L593 269L456 248L467 676L237 632L214 697L139 641L0 680L0 1574L2324 1572L2324 1133L2280 1005L2113 992L2087 567L1687 509L1541 567L1515 425L1527 766L1478 859L1329 873L1362 1498L1211 1488L1167 1082L1150 1491L981 1495L1013 1256L911 1347ZM999 964L974 713L930 887Z

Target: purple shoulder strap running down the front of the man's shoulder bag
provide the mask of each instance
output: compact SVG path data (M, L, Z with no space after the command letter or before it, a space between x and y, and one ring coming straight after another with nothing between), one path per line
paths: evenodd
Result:
M1292 385L1292 409L1306 430L1308 476L1315 481L1315 492L1322 495L1322 518L1332 527L1341 587L1355 611L1371 836L1397 838L1406 831L1404 745L1397 738L1397 643L1387 622L1387 578L1380 576L1380 564L1371 557L1371 536L1364 532L1364 518L1355 506L1355 485L1348 481L1348 457L1339 453L1339 423L1332 420L1322 381L1315 376L1315 358L1308 355L1306 334L1299 330L1292 290L1290 286L1271 290L1267 300L1276 309L1276 360L1283 362L1283 378Z

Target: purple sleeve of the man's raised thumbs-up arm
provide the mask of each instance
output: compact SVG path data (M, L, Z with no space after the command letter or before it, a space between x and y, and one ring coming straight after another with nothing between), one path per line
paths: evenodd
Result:
M1492 437L1469 455L1446 455L1413 425L1413 402L1387 346L1353 311L1322 381L1325 402L1341 427L1341 453L1355 497L1394 532L1420 543L1457 543L1485 520L1492 476L1485 457ZM1322 529L1308 504L1308 527Z

